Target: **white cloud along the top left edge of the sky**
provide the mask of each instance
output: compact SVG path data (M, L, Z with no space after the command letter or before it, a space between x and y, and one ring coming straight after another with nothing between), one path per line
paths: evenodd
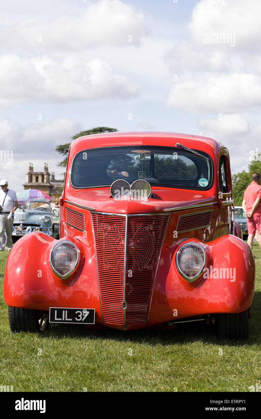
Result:
M62 15L62 13L61 13ZM0 33L2 51L80 51L99 45L140 44L147 34L144 16L132 5L119 0L87 3L80 16L62 15L53 20L30 18Z

